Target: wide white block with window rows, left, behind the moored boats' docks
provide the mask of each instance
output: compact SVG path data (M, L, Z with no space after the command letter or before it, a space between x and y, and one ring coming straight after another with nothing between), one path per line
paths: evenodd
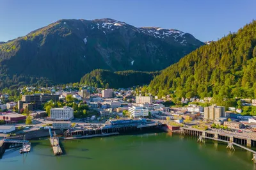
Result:
M74 111L72 107L53 108L51 109L52 120L72 120L74 118Z

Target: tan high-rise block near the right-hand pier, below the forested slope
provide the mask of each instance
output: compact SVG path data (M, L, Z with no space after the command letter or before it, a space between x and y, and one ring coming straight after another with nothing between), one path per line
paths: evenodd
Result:
M218 120L218 118L223 117L225 114L225 107L214 106L204 107L204 119L205 120Z

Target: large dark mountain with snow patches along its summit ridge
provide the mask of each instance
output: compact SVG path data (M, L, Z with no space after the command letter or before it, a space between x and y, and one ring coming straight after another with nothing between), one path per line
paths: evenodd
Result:
M204 43L175 29L113 19L58 20L0 45L0 74L77 82L97 68L156 71Z

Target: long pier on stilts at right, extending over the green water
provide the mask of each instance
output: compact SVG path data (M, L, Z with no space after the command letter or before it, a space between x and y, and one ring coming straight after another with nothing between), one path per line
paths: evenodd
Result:
M253 146L255 146L254 144L256 141L253 141L250 138L246 138L244 136L239 136L239 135L224 134L224 133L219 133L214 131L198 130L196 128L182 127L180 129L181 129L181 134L193 135L193 136L199 137L197 141L200 143L205 143L204 139L211 139L214 141L220 141L222 143L228 143L227 148L230 150L235 150L233 146L235 145L240 148L243 148L244 150L250 151L253 153L252 161L256 163L256 151L251 150L250 148L247 148L247 147L251 147L252 144Z

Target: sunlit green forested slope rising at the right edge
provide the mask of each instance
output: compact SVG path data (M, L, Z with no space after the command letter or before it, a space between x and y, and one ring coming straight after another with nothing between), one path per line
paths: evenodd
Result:
M194 50L151 82L160 96L256 98L256 22Z

